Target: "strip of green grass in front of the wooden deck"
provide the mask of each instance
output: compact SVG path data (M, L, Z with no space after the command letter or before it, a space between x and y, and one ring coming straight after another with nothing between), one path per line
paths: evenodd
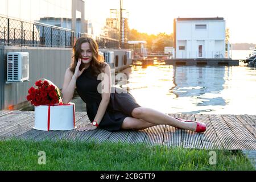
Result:
M45 165L38 164L39 151L46 152ZM0 170L254 170L240 152L216 150L210 165L209 150L145 144L10 139L0 141L0 154Z

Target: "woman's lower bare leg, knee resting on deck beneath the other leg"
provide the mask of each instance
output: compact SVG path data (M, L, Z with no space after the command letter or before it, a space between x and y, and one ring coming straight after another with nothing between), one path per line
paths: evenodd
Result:
M142 119L126 117L125 120L123 120L122 129L143 130L155 125L156 124L148 123L146 121L143 121Z

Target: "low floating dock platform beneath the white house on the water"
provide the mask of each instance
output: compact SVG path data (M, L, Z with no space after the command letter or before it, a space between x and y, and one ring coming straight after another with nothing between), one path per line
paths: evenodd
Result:
M132 59L133 65L149 66L154 64L161 65L228 65L238 66L240 61L233 59Z

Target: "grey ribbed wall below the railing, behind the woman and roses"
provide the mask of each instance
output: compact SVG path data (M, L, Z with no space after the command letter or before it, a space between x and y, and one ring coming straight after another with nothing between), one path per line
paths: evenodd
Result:
M102 52L106 50L101 50ZM125 50L114 51L114 56L118 55L118 67L114 64L110 67L116 71L129 67L131 59L127 64L123 64ZM6 84L6 55L8 52L28 52L29 53L29 81ZM15 47L0 46L0 109L17 109L17 105L26 101L27 90L34 85L39 78L51 80L60 89L63 86L64 74L71 64L71 48L43 48L43 47Z

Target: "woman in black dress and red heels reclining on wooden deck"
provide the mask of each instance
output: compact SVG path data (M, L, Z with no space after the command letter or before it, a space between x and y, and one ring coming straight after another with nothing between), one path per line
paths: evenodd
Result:
M155 125L170 125L196 132L205 131L204 123L184 121L154 109L141 107L130 93L121 93L122 89L114 88L113 92L110 67L101 59L97 43L92 38L77 39L73 46L73 55L73 63L65 72L63 103L68 104L72 100L76 88L86 103L86 111L92 122L91 125L78 130L95 130L97 127L109 131L139 130ZM99 75L101 79L98 80Z

